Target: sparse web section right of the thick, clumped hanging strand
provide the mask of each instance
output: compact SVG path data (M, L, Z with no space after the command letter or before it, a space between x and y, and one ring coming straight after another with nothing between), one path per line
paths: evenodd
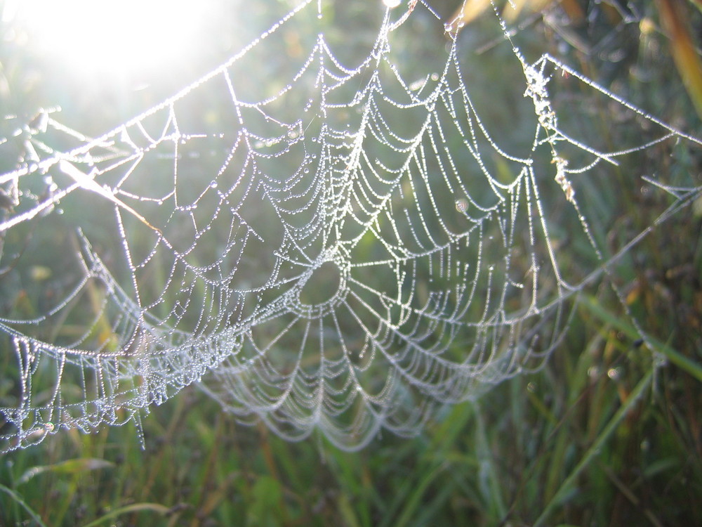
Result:
M552 222L552 232L566 240L564 249L583 255L583 272L590 266L594 273L616 274L633 245L698 199L701 143L551 56L526 72L525 95L541 98L534 95L539 84L548 96L548 106L535 103L541 108L538 141L552 157L541 174L553 180L543 177L541 184L561 190L544 193L543 208L569 206L577 213ZM625 216L621 203L647 214ZM576 239L571 233L578 224L585 236Z

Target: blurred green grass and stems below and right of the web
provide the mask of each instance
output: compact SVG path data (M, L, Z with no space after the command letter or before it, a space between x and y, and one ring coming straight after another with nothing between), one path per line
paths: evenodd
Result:
M695 8L687 11L690 26L701 27ZM639 57L655 49L644 102L699 135L698 88L680 80L694 61L670 59L682 52L668 47L675 34L658 32L668 22L657 13L645 13L655 31L627 26L612 45ZM585 69L602 67L572 53ZM7 65L19 59L0 58L18 86ZM609 74L610 85L627 80ZM0 455L0 526L702 525L701 203L654 229L581 296L542 370L444 408L416 438L382 434L357 453L322 436L288 443L190 387L144 416L143 445L128 424ZM644 197L608 206L638 230L661 213ZM624 298L610 280L626 282L616 284Z

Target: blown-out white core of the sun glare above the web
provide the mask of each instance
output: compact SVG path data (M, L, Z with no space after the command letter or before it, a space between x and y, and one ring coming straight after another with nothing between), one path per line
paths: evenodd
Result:
M12 3L12 2L11 2ZM84 74L130 74L173 65L197 47L211 2L16 0L15 17L41 53Z

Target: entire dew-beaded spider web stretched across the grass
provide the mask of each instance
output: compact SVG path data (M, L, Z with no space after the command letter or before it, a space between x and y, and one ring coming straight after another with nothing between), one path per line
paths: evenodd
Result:
M541 367L583 291L697 199L701 143L485 18L478 38L429 0L301 1L98 138L20 123L0 450L190 384L351 450ZM642 199L658 219L622 221Z

